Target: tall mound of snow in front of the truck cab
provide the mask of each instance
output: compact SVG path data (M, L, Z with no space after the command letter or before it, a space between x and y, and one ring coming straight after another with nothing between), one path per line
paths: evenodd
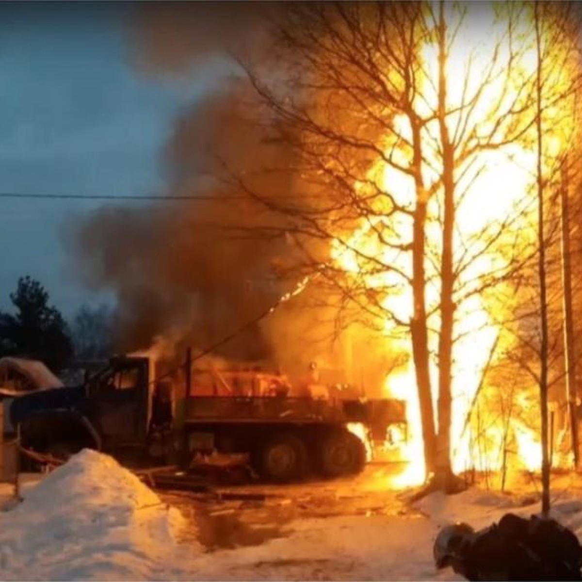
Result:
M0 515L0 578L182 577L181 527L133 473L85 449Z

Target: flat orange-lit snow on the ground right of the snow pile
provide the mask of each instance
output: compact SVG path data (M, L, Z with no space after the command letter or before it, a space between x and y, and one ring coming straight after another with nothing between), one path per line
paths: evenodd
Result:
M525 505L524 505L525 504ZM466 521L490 525L506 512L537 513L531 496L508 496L471 489L455 496L432 494L416 504L416 516L346 516L304 520L287 538L254 548L221 552L221 569L198 560L197 578L278 580L459 580L437 572L432 544L439 528ZM424 515L423 515L424 514ZM555 502L554 516L582 534L582 501Z

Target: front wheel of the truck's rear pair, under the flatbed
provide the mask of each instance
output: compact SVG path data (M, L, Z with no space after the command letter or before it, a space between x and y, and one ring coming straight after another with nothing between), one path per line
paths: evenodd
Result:
M278 483L298 481L307 473L307 449L300 438L279 432L258 444L251 454L251 464L265 480Z

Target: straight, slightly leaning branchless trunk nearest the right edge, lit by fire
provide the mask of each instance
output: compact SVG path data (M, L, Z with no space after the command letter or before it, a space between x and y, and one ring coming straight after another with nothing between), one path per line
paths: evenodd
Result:
M572 265L570 256L570 209L568 200L568 160L564 161L562 186L560 187L562 223L562 286L564 315L564 354L566 365L566 393L570 419L570 438L574 455L574 468L579 468L578 420L576 417L576 357L574 354L574 316L572 311Z

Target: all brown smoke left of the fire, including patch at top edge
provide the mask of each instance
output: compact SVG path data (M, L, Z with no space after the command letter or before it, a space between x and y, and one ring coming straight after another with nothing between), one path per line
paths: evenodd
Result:
M269 23L281 14L272 3L141 5L129 31L134 62L150 74L183 74L235 48L257 54L268 45ZM67 246L80 277L116 294L119 350L162 342L167 352L168 341L180 354L186 345L202 349L253 321L292 288L293 280L282 283L279 275L297 252L289 236L293 225L248 196L297 202L295 154L280 139L282 131L246 81L225 78L218 92L176 119L161 152L169 196L192 200L115 205L69 222ZM240 176L243 183L233 179ZM313 360L352 370L357 361L357 378L353 372L333 380L361 380L378 392L389 365L378 355L384 346L369 340L357 352L354 333L370 332L343 333L335 306L320 300L316 311L310 307L314 294L317 289L308 287L215 353L268 360L293 379Z

